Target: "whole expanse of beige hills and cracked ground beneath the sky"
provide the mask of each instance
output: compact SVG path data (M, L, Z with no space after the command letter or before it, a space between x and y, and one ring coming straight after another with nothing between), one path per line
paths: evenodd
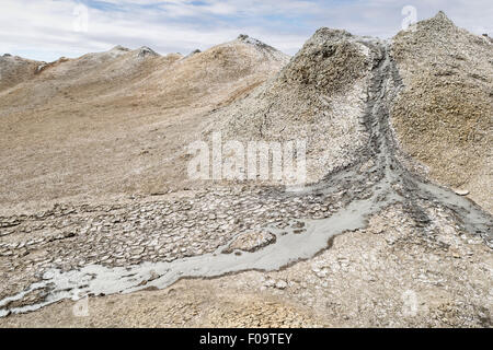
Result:
M244 35L0 58L0 327L492 327L491 45L439 13L391 42L320 28L290 60ZM214 131L306 138L313 185L190 180ZM309 257L156 287L187 259L298 257L318 225L336 234ZM49 283L88 266L138 291L89 290L81 315L56 293L83 281Z

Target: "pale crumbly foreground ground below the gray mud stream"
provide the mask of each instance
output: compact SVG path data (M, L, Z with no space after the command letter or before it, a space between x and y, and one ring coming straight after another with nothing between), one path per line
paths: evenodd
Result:
M164 290L62 301L0 319L2 327L492 327L493 257L429 208L440 228L415 229L389 208L280 271L181 280ZM488 295L488 299L484 299ZM80 306L79 306L80 307ZM85 307L85 306L83 306Z

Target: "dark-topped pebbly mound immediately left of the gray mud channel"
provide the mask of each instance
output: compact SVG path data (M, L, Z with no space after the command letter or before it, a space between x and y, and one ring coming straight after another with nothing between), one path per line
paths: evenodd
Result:
M321 28L271 81L219 110L210 131L233 140L306 139L308 180L347 165L360 128L369 49L347 32Z

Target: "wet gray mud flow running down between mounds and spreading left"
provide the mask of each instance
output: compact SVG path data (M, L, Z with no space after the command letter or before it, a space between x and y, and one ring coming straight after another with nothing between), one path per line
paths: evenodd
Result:
M402 85L398 70L389 55L389 44L377 39L358 40L375 57L372 78L368 86L367 110L363 124L369 131L368 144L362 150L360 160L342 170L328 174L320 183L307 186L298 192L276 192L276 196L319 196L344 191L345 206L326 219L303 220L307 232L295 234L293 230L280 232L274 225L265 231L276 235L276 243L259 250L241 255L215 253L177 259L171 262L144 262L141 265L106 268L89 265L78 270L47 271L43 279L28 289L0 301L0 316L9 313L35 311L62 299L80 299L85 295L129 293L149 287L169 287L181 278L210 278L245 270L277 270L293 262L308 259L328 247L334 235L363 229L368 219L393 203L402 203L421 225L431 219L420 202L427 201L448 208L462 229L481 235L492 245L492 217L467 198L433 185L411 174L397 159L397 145L389 126L389 106ZM364 171L362 166L370 163ZM9 308L12 301L26 294L46 290L43 302Z

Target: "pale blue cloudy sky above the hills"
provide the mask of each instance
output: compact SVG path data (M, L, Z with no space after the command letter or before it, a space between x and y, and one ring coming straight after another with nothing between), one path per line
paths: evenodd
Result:
M1 0L0 55L51 61L115 45L188 54L242 33L293 55L321 26L390 37L413 15L409 5L417 20L443 10L493 34L491 0Z

